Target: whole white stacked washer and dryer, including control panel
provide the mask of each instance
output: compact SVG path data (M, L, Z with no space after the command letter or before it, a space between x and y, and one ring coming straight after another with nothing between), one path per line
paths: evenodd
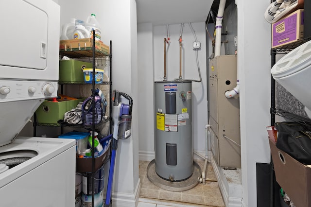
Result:
M57 96L60 6L52 0L2 4L0 206L74 206L75 140L18 137L37 107Z

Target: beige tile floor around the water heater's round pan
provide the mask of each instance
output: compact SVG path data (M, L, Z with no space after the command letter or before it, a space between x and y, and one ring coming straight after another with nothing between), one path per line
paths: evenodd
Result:
M201 167L204 160L195 160ZM158 188L147 178L149 161L139 161L139 178L141 182L140 198L150 199L152 203L168 202L175 205L188 204L193 207L225 207L223 197L218 187L212 165L207 163L205 184L199 183L194 188L185 191L168 191Z

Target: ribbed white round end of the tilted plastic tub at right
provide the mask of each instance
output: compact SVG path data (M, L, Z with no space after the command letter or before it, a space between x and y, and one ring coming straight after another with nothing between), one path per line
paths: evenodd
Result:
M308 41L279 59L271 69L273 78L293 74L311 66L311 41Z

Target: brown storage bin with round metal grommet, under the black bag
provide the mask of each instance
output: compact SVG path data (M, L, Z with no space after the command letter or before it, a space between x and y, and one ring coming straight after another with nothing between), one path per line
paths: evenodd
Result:
M311 167L276 148L269 139L276 181L296 207L311 207Z

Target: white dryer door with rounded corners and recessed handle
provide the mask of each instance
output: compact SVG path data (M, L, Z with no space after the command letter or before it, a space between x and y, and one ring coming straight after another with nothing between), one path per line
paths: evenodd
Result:
M0 7L0 19L0 65L45 69L47 14L24 0L10 0Z

